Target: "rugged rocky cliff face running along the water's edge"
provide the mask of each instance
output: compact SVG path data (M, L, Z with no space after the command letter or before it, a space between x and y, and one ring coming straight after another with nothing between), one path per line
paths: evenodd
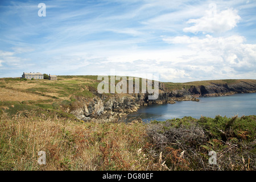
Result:
M205 85L193 82L181 89L170 89L163 82L159 83L159 97L148 100L148 94L112 94L105 95L90 90L96 97L81 101L82 107L71 113L84 121L115 121L122 115L137 111L139 106L148 104L175 104L175 101L199 101L196 97L222 96L234 93L256 91L256 81L239 81L232 83L208 82Z

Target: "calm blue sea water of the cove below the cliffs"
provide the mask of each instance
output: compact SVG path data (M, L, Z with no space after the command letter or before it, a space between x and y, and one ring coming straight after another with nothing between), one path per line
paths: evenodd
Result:
M214 118L216 115L222 117L233 117L238 115L256 114L256 93L240 93L231 96L200 97L199 102L176 101L176 104L141 106L137 112L127 115L127 120L142 118L143 122L151 120L166 121L166 119L183 118L191 116L199 119L204 117Z

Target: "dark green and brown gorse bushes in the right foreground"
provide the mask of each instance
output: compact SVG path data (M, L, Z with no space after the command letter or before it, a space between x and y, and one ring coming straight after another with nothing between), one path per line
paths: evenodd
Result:
M143 151L172 170L254 170L255 127L255 115L154 121ZM209 151L217 153L217 165L209 164Z

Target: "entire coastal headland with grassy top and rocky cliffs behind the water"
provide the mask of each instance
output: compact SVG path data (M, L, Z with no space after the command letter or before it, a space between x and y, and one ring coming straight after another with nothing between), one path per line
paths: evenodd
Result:
M7 113L40 109L85 122L108 122L144 105L175 104L176 101L200 101L200 97L256 92L256 80L159 82L158 98L148 100L150 94L142 92L98 93L99 83L97 76L58 76L57 81L1 78L0 107Z

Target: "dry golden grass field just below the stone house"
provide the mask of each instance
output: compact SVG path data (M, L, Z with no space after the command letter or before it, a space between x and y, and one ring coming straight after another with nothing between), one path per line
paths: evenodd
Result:
M61 97L69 100L76 92L82 92L85 85L92 84L96 80L84 77L61 78L58 81L50 80L27 80L20 81L19 78L0 78L0 101L36 101L47 100L47 96L53 98ZM68 93L67 93L68 92ZM41 96L40 96L41 95Z

